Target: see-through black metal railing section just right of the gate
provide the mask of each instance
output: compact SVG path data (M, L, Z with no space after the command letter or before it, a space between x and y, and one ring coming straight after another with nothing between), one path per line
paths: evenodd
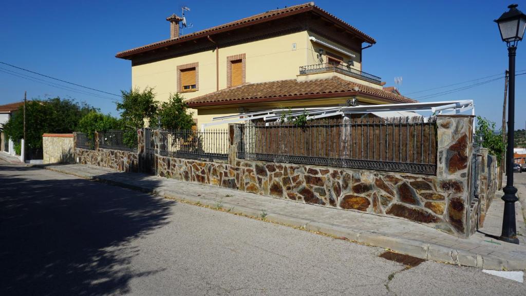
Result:
M160 131L159 153L187 159L228 162L228 130Z

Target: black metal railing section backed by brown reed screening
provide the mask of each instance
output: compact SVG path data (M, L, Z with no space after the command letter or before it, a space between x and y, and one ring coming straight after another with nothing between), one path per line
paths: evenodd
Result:
M240 159L434 174L436 120L423 117L241 127Z

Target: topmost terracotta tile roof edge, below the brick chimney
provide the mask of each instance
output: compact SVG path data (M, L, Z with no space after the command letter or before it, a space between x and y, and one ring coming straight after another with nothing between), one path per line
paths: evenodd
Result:
M354 31L358 35L361 35L363 38L365 38L367 40L367 42L376 43L375 39L372 38L371 36L363 33L359 29L349 25L346 22L343 22L340 18L328 13L327 11L319 8L318 6L315 6L314 2L308 2L308 3L304 3L304 4L299 4L299 5L286 7L286 8L274 9L274 10L267 11L267 12L264 12L264 13L252 15L252 16L245 17L245 18L241 18L241 19L238 19L237 21L234 21L234 22L226 23L226 24L223 24L223 25L219 25L219 26L211 27L211 28L204 29L204 30L201 30L201 31L197 31L197 32L194 32L194 33L190 33L190 34L186 34L186 35L183 35L183 36L179 36L177 38L171 38L171 39L167 39L167 40L151 43L151 44L148 44L148 45L132 48L131 50L119 52L115 56L124 58L126 56L133 55L136 52L148 50L149 48L155 48L155 47L159 47L159 46L166 46L166 45L169 45L171 43L182 42L182 41L184 41L184 40L186 40L186 39L188 39L190 37L199 36L199 35L207 35L207 34L210 34L210 33L214 33L215 31L218 31L220 29L235 27L237 25L242 25L242 24L246 24L246 23L250 23L250 22L259 21L260 19L264 19L264 18L268 18L268 17L272 17L272 16L278 16L278 15L282 15L282 14L298 11L300 9L309 9L309 8L310 9L316 9L318 12L326 14L326 15L332 17L332 18L335 18L337 21L341 22L343 25L348 26L349 29L351 29L351 31Z

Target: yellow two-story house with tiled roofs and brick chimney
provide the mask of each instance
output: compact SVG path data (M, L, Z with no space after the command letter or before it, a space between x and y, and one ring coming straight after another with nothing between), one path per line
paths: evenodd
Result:
M362 71L376 41L313 2L275 9L186 35L171 15L170 38L116 57L131 61L133 87L158 100L181 93L198 125L271 108L412 103Z

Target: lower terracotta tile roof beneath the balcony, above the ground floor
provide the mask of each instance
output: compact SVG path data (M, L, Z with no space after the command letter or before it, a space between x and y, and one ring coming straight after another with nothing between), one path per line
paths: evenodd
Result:
M358 91L356 91L356 89L358 89ZM242 84L192 98L186 101L186 103L191 107L203 105L235 104L242 102L250 103L250 101L254 100L272 102L276 100L294 100L295 98L307 97L334 97L338 96L339 94L342 96L349 95L349 93L385 98L391 102L416 102L408 97L333 76L331 78L310 81L297 81L296 79L291 79Z

